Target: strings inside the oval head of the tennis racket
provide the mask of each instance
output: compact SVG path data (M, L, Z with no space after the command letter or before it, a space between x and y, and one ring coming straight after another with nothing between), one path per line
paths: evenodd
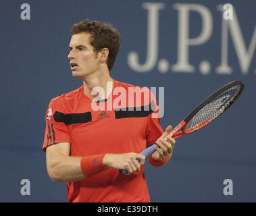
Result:
M209 101L188 121L184 132L188 133L198 130L222 114L230 106L239 90L240 85L232 86Z

